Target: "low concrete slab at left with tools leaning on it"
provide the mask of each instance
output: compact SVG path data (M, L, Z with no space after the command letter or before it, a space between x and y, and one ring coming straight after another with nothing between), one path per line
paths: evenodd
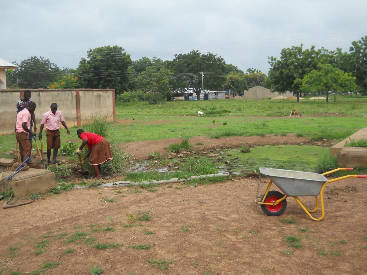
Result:
M3 179L10 176L13 171L4 172ZM21 171L0 186L0 190L7 192L10 188L15 196L23 198L33 193L50 192L51 187L58 186L54 172L46 169L33 169Z

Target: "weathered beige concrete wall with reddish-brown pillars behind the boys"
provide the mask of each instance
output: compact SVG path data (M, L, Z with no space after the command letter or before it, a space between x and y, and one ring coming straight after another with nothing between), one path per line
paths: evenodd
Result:
M51 103L58 104L68 127L81 126L92 115L107 115L115 119L114 89L30 89L31 100L36 102L37 129L42 115L50 110ZM0 89L0 135L14 133L15 105L23 97L24 89Z

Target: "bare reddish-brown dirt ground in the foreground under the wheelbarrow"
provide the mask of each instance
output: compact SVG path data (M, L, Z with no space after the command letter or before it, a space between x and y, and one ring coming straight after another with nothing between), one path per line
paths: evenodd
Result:
M104 274L367 272L365 179L330 183L324 195L326 215L319 222L310 220L293 198L287 199L281 216L265 215L254 202L257 182L239 178L197 187L165 185L154 192L139 187L123 187L121 192L79 189L0 209L0 274L32 272L50 261L60 264L46 274L89 274L89 267L98 264ZM105 204L98 198L115 202ZM305 202L310 207L314 203L307 197ZM126 216L146 210L151 210L151 220L129 222ZM295 224L281 223L291 217ZM108 227L114 231L98 232ZM67 243L76 232L89 235ZM299 235L299 248L289 247L294 244L284 239L289 235ZM42 240L47 240L46 247L35 255L34 246ZM93 247L102 242L120 247ZM130 248L138 244L151 247ZM65 254L66 249L75 251ZM172 263L163 270L147 262L155 259Z

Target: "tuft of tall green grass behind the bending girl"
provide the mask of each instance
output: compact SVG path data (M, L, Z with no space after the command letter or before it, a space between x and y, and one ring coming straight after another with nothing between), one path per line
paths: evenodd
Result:
M111 122L107 121L107 115L93 115L92 118L87 121L87 124L83 125L83 130L103 136L110 144L112 160L101 165L101 170L103 172L115 174L126 172L131 161L115 142L114 137L116 134L111 131ZM92 169L92 167L88 167L88 169Z

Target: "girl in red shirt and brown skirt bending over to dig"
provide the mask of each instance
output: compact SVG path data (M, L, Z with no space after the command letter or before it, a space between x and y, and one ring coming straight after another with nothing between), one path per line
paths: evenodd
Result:
M99 172L101 170L101 164L112 159L110 144L103 136L84 132L83 129L79 129L76 133L78 137L83 140L81 146L76 150L76 153L81 154L81 150L83 150L86 145L88 148L87 154L85 154L82 159L82 164L84 159L90 155L89 164L92 165L94 169L95 178L98 180L102 179L101 173Z

